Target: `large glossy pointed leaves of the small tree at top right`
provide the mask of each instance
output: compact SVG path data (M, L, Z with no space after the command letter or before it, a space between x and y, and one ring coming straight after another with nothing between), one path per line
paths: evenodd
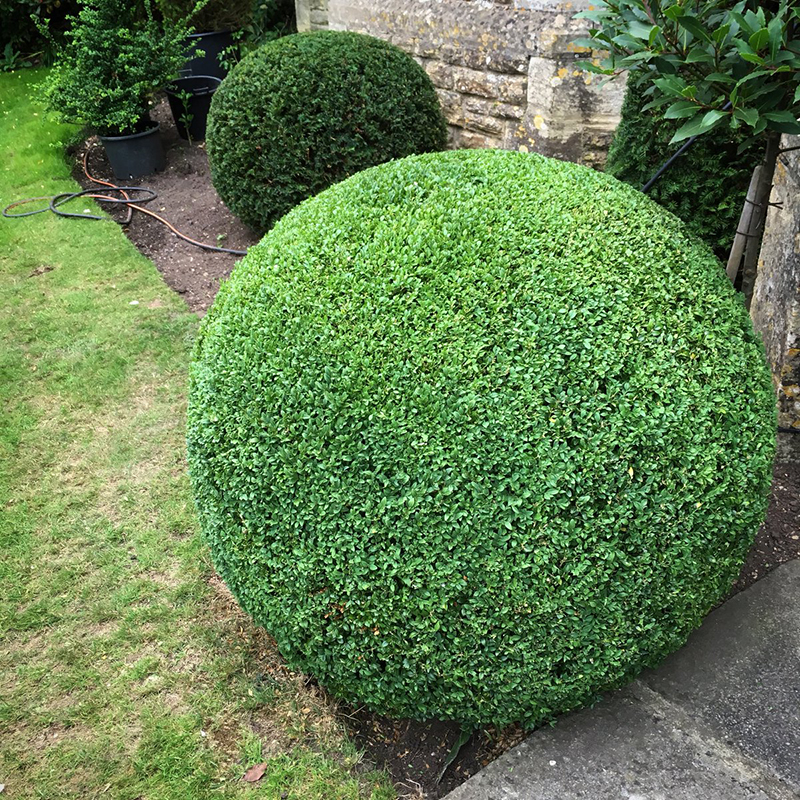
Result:
M578 14L594 22L577 44L607 51L608 75L648 80L652 107L680 120L679 142L720 127L800 133L800 7L794 0L606 0Z

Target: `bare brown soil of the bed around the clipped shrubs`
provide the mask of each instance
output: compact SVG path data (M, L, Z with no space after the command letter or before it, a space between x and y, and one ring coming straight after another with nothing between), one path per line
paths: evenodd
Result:
M208 158L202 143L178 138L166 103L153 114L161 122L167 149L164 172L140 181L158 193L150 208L181 232L208 244L245 250L258 236L223 205L211 185ZM82 159L89 148L89 171L113 182L99 143L90 139L77 152L75 176L85 188L93 184L83 174ZM112 210L112 214L119 214ZM166 227L134 212L126 227L131 241L152 259L165 282L179 292L189 308L200 314L211 305L220 279L227 277L236 256L211 253L182 242ZM773 473L767 519L758 532L731 594L746 589L775 567L800 557L800 436L781 434L782 447ZM401 798L440 798L525 737L512 726L476 732L444 770L461 728L449 722L390 720L363 709L351 709L344 721L365 758L385 768Z

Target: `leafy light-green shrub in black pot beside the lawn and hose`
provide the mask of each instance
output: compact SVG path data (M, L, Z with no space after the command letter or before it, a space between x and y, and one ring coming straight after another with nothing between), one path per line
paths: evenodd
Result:
M156 19L151 0L85 0L44 85L50 109L100 136L120 180L164 168L153 94L186 57L188 23Z

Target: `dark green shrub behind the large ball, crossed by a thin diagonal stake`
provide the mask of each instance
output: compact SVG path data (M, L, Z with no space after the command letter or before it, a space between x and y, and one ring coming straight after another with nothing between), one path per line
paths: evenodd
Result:
M622 119L606 163L606 172L636 188L644 186L680 147L669 140L685 121L643 111L651 99L645 96L646 89L647 84L628 81ZM763 142L737 153L740 139L731 137L727 129L700 137L649 191L720 258L727 258L731 249L750 176L764 156Z

